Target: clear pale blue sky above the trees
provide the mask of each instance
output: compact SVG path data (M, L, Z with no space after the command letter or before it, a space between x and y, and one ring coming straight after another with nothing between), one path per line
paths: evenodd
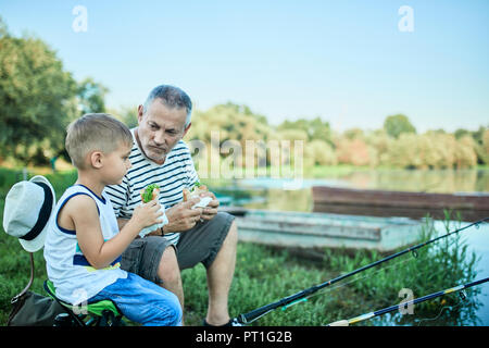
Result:
M75 33L75 5L87 9ZM402 5L414 30L400 32ZM163 83L197 109L228 100L272 124L322 116L379 128L406 114L419 132L489 124L489 1L0 0L15 35L50 45L75 78L137 105Z

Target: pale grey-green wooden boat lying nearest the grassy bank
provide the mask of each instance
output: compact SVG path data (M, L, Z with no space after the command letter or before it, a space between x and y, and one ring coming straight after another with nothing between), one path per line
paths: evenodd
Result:
M233 208L226 208L233 213ZM238 209L239 239L290 248L347 248L391 251L414 244L421 221L408 217Z

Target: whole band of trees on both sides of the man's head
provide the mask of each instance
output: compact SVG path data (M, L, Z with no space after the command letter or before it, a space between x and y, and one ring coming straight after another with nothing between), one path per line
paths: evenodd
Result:
M28 35L12 36L1 18L0 77L0 164L14 160L46 165L53 158L67 159L65 128L87 112L110 112L129 127L137 125L136 107L108 109L106 87L92 77L75 80L46 42ZM338 133L321 117L273 126L265 115L228 102L196 110L186 140L210 144L211 133L218 130L220 145L233 140L242 149L246 140L288 140L292 147L294 140L302 140L305 165L466 169L489 164L488 126L418 134L408 116L397 114L387 116L380 129ZM265 160L269 164L269 156Z

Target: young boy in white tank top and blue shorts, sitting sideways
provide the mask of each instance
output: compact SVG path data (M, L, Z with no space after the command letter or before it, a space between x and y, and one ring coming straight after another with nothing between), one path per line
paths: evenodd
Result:
M174 294L120 269L122 252L139 232L163 221L160 203L152 200L137 207L120 232L104 192L130 167L129 129L108 114L86 114L68 126L65 146L78 179L60 198L45 244L57 296L73 304L111 299L131 321L181 325Z

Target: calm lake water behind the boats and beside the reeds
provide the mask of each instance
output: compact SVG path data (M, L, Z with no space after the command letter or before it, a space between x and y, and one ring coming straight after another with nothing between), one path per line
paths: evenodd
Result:
M235 185L225 188L223 194L234 197L229 203L244 208L312 212L313 201L311 187L315 185L447 194L488 192L489 170L352 170L348 171L348 173L328 174L324 177L304 173L304 177L299 179L269 177L237 179L235 181ZM455 226L455 224L453 225ZM467 225L467 223L462 223L461 226L464 225ZM441 221L437 221L435 227L437 232L446 233L444 225ZM477 263L476 279L488 277L489 224L482 224L479 228L472 227L466 229L462 238L468 245L467 254L475 252L480 258ZM475 312L477 325L488 326L489 283L479 285L478 288L480 293L477 295L476 301L479 303L479 307ZM438 290L441 289L434 289L434 291ZM424 295L427 294L419 294L417 296ZM441 310L441 307L439 310ZM438 312L434 313L434 316L437 316L437 314ZM392 323L392 315L386 314L376 323L388 325ZM434 323L440 325L439 321L438 323ZM465 323L462 322L462 324L472 325L473 322L467 321ZM450 325L450 323L447 323L447 325Z

